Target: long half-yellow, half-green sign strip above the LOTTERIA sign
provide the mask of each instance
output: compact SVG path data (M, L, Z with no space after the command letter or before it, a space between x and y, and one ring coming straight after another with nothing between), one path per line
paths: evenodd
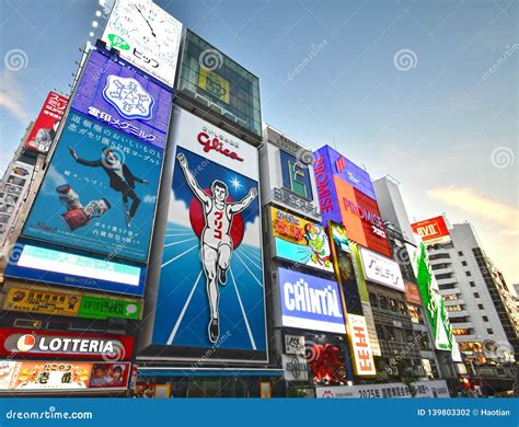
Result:
M99 320L140 320L142 316L140 300L55 291L27 285L8 285L2 309Z

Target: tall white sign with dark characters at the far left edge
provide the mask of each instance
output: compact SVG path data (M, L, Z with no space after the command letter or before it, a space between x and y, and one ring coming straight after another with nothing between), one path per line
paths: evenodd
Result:
M31 186L34 166L16 161L0 185L0 257L7 249L23 201Z

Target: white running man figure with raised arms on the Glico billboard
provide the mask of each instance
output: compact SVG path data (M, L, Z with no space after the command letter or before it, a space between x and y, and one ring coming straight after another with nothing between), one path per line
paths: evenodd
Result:
M211 319L207 327L209 341L216 343L220 336L218 282L226 285L227 270L231 263L232 241L230 230L232 218L244 210L257 196L255 187L240 201L228 203L227 185L215 180L211 184L212 196L204 192L189 170L184 154L176 155L186 177L187 185L201 203L205 227L200 235L200 258L206 275L206 289L209 299Z

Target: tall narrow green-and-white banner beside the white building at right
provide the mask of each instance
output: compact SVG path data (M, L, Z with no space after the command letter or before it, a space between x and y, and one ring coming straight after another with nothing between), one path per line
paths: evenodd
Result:
M435 336L435 347L439 350L452 350L454 337L443 299L432 289L432 273L424 242L414 255L416 280L422 301Z

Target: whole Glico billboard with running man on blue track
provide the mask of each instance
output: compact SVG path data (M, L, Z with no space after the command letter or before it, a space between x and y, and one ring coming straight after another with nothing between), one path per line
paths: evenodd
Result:
M174 114L152 343L264 353L257 149L181 108Z

